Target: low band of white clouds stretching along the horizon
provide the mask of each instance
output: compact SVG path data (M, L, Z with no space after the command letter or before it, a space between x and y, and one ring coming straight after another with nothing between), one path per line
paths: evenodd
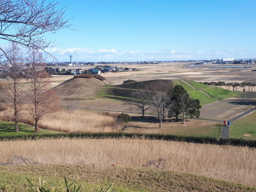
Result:
M117 51L116 49L89 50L86 48L58 49L50 48L47 50L52 53L59 61L69 61L69 55L73 56L74 61L150 61L154 60L199 60L226 58L227 55L245 54L244 50L150 50L142 52L138 50ZM237 53L236 53L237 52ZM233 56L234 57L234 56Z

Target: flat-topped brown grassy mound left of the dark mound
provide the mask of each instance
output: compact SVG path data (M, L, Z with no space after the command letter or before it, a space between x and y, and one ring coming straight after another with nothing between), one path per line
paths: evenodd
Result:
M55 87L60 100L87 100L95 96L105 81L96 78L73 78Z

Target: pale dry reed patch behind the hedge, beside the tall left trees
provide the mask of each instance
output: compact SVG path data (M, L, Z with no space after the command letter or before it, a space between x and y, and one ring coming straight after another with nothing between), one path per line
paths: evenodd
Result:
M12 120L12 109L0 112L0 120ZM34 121L28 111L24 111L20 122L33 125ZM99 133L117 132L123 123L117 116L110 113L96 113L85 110L61 110L50 114L39 121L39 127L46 130L68 133Z

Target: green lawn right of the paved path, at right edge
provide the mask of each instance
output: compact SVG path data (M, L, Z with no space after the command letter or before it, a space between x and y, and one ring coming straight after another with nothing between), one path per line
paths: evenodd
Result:
M231 122L229 129L230 138L256 140L256 112Z

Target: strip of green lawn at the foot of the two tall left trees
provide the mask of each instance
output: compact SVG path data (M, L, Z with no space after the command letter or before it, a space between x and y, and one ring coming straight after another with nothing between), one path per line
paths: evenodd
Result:
M45 135L58 134L61 132L39 129L40 132L35 133L35 128L25 123L18 123L19 132L14 133L14 122L0 121L0 136L17 136L17 135Z

